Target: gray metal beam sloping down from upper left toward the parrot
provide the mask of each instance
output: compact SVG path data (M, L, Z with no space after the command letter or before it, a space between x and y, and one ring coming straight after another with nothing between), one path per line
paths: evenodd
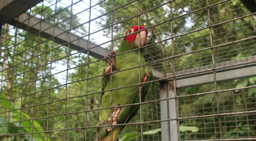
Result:
M26 19L29 19L29 21L25 21ZM32 34L37 34L39 31L44 31L40 33L40 36L46 39L50 39L53 37L53 29L54 29L54 34L55 35L59 35L61 33L61 35L59 36L54 36L54 42L59 43L59 44L64 44L69 42L69 32L66 32L65 30L59 28L59 27L55 27L52 26L51 24L49 24L46 21L41 21L40 19L36 18L36 17L30 17L29 14L27 13L23 13L19 16L19 18L15 18L14 20L17 20L17 22L23 22L22 24L18 25L18 28L20 29L26 29L28 26L31 27L29 29L29 32L31 32ZM37 24L37 23L41 23L41 24ZM13 23L14 24L14 23ZM41 30L40 30L40 25L41 25ZM33 27L32 27L33 26ZM47 30L45 30L47 29ZM69 43L70 44L70 48L77 50L77 51L81 51L84 49L87 49L87 45L88 45L88 41L85 39L79 39L79 36L76 36L74 34L70 35L70 40L75 40L74 42ZM90 42L90 47L94 47L97 46L96 44ZM83 53L87 54L87 50L84 51ZM109 53L109 50L99 46L97 48L93 48L89 50L89 54L95 58L98 59L102 59L104 56L106 56Z

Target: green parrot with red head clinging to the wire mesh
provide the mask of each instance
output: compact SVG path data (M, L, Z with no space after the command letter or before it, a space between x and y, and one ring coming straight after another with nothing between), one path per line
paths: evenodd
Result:
M145 27L140 26L140 30L145 29ZM139 31L139 26L134 26L126 32L126 37L119 47L119 53L127 52L139 47L139 36L140 36L140 47L144 46L146 43L146 37L148 34L147 29L133 34L133 32ZM108 74L114 71L125 70L127 68L139 66L139 52L138 50L120 54L118 57L114 56L116 53L114 51L110 52L104 57L104 61L109 65L106 67L102 74ZM112 57L113 56L113 57ZM108 58L112 57L112 60ZM111 66L112 63L112 66ZM143 56L143 49L140 52L140 65L146 65L146 61ZM152 71L148 66L140 67L140 82L149 82L152 80ZM110 89L110 75L102 76L102 91ZM120 71L112 74L112 88L120 88L129 85L134 85L139 83L139 68L133 68L126 71ZM140 95L142 102L147 95L150 83L143 84L142 86L133 86L128 88L112 90L112 106L127 105L140 102ZM139 89L141 92L139 92ZM140 94L141 93L141 94ZM110 107L110 91L102 92L100 99L100 108ZM138 112L140 105L123 106L113 109L113 113L110 109L100 110L99 122L94 126L107 126L111 124L110 116L112 116L113 125L128 123ZM112 141L118 141L118 135L120 130L124 126L109 126L109 127L97 127L96 137L94 141L111 141L110 134L112 128Z

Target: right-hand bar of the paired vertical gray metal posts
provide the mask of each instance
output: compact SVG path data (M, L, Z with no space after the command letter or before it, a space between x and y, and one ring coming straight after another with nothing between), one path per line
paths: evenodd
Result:
M168 97L173 98L175 96L173 82L168 82ZM178 103L178 102L177 102ZM178 105L177 105L178 107ZM169 119L176 118L175 99L169 100ZM177 121L170 121L170 141L178 141Z

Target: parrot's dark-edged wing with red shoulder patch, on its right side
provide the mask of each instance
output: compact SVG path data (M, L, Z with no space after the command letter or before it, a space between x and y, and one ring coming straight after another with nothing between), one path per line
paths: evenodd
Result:
M149 82L152 80L152 71L150 70L150 72L146 73L145 74L145 77L144 77L144 80L143 80L143 83L144 82ZM144 98L146 97L147 95L147 91L149 90L149 86L150 86L150 83L148 84L144 84L142 89L141 89L141 100L144 101ZM138 95L137 98L135 99L134 103L139 103L140 102L140 96ZM128 114L128 116L126 117L126 120L124 121L124 123L128 123L138 112L138 110L140 109L140 105L133 105L133 107L131 108L130 110L130 113ZM125 127L124 126L121 126L121 130Z

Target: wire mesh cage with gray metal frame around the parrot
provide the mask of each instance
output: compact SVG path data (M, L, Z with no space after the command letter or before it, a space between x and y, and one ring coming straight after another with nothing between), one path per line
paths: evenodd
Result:
M6 22L0 6L1 141L94 141L101 93L144 84L137 114L116 125L126 125L119 141L256 140L255 0L33 3ZM148 30L145 45L120 53L136 25ZM153 79L112 87L121 71L102 74L111 51L142 55ZM105 75L111 89L102 90Z

